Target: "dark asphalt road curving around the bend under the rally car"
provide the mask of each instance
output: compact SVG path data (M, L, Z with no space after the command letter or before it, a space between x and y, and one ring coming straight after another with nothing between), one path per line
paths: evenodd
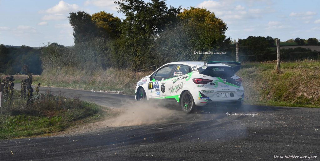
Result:
M59 90L66 96L79 95L104 105L121 106L123 100L133 99L127 95L51 88L54 92ZM259 115L227 116L227 112ZM181 111L179 117L163 124L1 140L0 160L284 160L293 155L299 158L286 160L320 160L319 121L320 108L209 106L192 114ZM275 155L279 158L275 159ZM316 158L308 159L311 156Z

